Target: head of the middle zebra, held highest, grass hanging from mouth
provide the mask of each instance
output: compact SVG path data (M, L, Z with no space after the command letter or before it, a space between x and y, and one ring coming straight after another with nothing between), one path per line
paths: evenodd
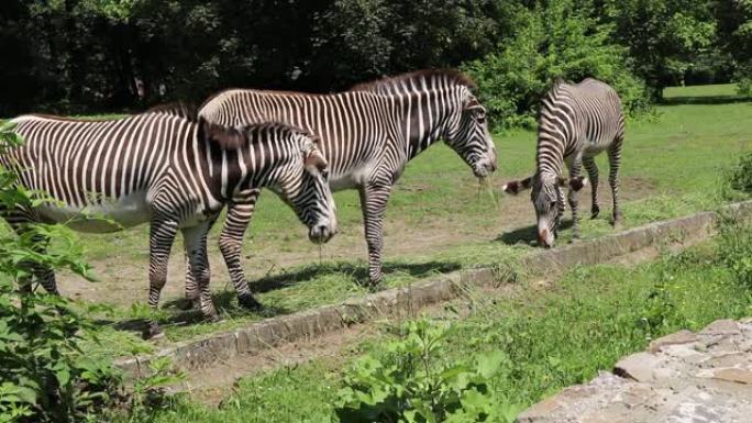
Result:
M462 108L455 119L450 121L444 142L452 147L473 169L478 178L494 172L496 165L496 146L488 132L486 108L463 88Z

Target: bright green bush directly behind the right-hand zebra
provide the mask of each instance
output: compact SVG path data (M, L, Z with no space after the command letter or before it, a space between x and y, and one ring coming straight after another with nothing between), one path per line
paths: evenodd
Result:
M648 108L645 86L631 75L626 48L611 42L612 26L590 15L574 0L521 9L517 34L498 52L464 67L497 126L533 127L540 99L557 77L604 80L619 92L628 112Z

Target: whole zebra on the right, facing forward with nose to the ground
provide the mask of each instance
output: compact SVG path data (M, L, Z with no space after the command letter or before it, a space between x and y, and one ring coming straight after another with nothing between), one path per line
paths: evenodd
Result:
M554 244L565 208L562 188L566 186L569 187L567 199L572 207L573 236L579 237L577 191L588 183L588 179L579 175L583 165L593 186L590 218L600 213L595 156L604 151L608 154L608 180L613 197L611 222L615 226L619 224L619 167L623 140L624 114L613 88L593 78L577 85L561 79L554 82L541 105L535 175L502 187L511 194L532 188L538 240L542 246ZM568 179L561 177L563 163L569 169Z

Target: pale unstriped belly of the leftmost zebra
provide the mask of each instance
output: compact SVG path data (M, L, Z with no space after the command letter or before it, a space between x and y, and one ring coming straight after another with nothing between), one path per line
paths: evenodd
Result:
M42 205L36 211L45 220L65 223L73 230L91 233L121 231L146 223L152 216L145 190L84 208L53 204Z

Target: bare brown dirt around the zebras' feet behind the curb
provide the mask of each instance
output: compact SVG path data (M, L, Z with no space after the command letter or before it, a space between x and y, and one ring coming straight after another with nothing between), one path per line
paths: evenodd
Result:
M501 181L497 181L501 185ZM611 190L607 180L600 181L601 218L608 219L611 203ZM643 178L624 178L621 185L624 201L648 197L654 192L655 186ZM401 187L400 187L401 188ZM500 187L496 187L499 192ZM430 189L430 186L410 186L408 189ZM580 203L589 210L589 191L580 194ZM482 196L478 201L490 201ZM520 227L528 227L534 223L534 215L529 197L504 197L499 199L497 211L479 220L468 220L464 216L424 215L420 223L406 222L400 216L389 213L384 231L384 258L425 256L428 252L440 253L457 245L482 242L528 243L532 240L524 230L505 237ZM247 240L243 248L243 268L250 280L284 272L285 269L321 259L327 261L353 260L365 261L366 246L363 237L362 223L343 224L340 234L327 244L321 252L307 243L305 229L301 227L300 240L292 240L284 247L274 238L274 234L254 233L253 240ZM251 227L253 231L253 226ZM258 232L258 231L256 231ZM109 242L101 236L101 242ZM88 282L80 277L62 274L59 286L65 296L88 301L130 305L135 302L144 303L148 296L148 238L143 235L142 249L139 252L121 251L113 245L112 254L100 260L93 260L95 272L100 276L97 283ZM169 260L168 282L164 288L162 303L184 296L185 263L180 246L181 240L176 240ZM209 261L212 271L212 290L215 292L232 291L224 261L219 253L217 243L209 243Z

